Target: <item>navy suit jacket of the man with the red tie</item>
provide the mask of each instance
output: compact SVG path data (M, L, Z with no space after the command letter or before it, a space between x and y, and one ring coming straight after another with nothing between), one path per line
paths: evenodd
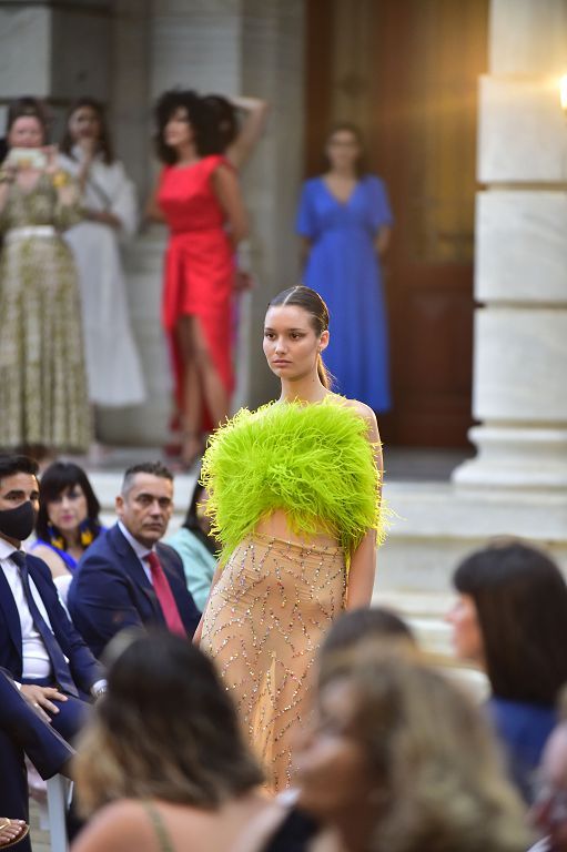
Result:
M192 637L201 613L188 590L183 562L169 545L158 544L155 549L183 626ZM101 532L82 557L67 605L95 657L125 627L165 627L153 586L118 524Z

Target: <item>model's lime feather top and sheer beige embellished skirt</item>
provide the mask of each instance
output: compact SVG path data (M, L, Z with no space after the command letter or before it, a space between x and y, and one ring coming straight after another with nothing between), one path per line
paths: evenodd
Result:
M345 607L347 564L379 527L367 426L341 397L243 409L202 465L223 566L201 647L233 697L267 784L293 783L316 651Z

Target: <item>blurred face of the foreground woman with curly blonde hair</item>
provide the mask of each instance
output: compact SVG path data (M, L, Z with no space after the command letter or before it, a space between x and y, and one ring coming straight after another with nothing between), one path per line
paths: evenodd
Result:
M298 803L322 822L356 819L375 785L356 736L356 707L346 679L328 683L296 751Z

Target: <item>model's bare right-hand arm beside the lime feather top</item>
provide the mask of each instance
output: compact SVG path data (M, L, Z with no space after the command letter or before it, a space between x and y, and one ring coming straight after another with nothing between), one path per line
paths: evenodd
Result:
M364 417L368 428L368 440L374 447L374 459L378 471L378 496L382 494L382 474L384 469L382 458L382 445L379 440L376 415L362 403L354 403L356 409ZM346 588L346 609L368 607L374 589L376 575L376 530L369 529L354 551L348 571L348 585Z

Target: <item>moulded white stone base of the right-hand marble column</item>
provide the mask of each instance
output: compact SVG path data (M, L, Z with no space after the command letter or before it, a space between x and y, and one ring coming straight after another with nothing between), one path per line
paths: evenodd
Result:
M567 488L567 428L475 426L478 455L453 471L457 486Z

